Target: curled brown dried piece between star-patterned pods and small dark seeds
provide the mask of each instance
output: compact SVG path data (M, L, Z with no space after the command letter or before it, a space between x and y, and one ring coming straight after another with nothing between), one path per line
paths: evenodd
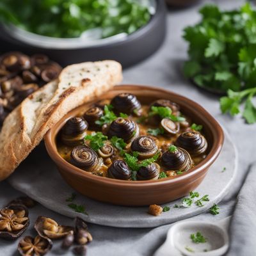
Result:
M74 228L69 226L61 226L51 218L39 216L35 222L35 230L44 238L60 239L67 236Z

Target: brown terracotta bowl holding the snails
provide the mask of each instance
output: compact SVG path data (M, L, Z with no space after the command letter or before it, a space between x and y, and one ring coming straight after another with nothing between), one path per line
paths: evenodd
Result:
M58 154L56 136L69 118L81 113L86 105L92 104L92 102L89 102L70 111L45 136L47 152L56 163L61 176L79 193L102 202L117 205L164 204L188 195L189 191L193 191L202 182L207 170L220 154L224 138L220 125L196 102L159 88L137 85L115 86L113 90L102 95L99 99L110 99L122 92L133 93L144 104L150 104L156 99L170 99L179 104L184 115L191 116L196 124L204 125L204 134L209 144L207 157L188 172L173 179L115 180L84 172L65 161Z

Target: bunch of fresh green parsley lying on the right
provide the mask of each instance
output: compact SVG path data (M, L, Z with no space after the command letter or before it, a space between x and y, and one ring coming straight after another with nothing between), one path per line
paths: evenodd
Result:
M189 61L184 75L198 86L226 93L222 113L256 122L256 10L249 3L239 10L223 11L213 4L201 10L202 20L184 29ZM245 101L244 110L240 105Z

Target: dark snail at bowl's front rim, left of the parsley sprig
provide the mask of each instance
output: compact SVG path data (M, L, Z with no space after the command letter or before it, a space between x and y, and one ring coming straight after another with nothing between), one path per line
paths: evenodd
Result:
M129 180L131 179L131 170L122 160L115 160L108 168L107 176L111 179Z

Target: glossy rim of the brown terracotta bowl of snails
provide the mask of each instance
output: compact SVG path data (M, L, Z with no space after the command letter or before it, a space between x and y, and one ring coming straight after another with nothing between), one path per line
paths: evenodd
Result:
M60 166L62 172L69 172L72 173L73 175L78 175L80 177L86 177L86 179L88 180L93 180L93 182L96 183L104 183L104 184L110 184L113 186L159 186L161 184L175 184L175 183L179 183L182 180L186 180L189 179L189 177L196 175L197 173L202 172L203 170L205 170L206 168L209 168L209 166L211 166L211 164L215 161L215 159L218 157L218 155L220 154L222 145L223 145L223 141L224 141L224 134L223 134L223 130L220 126L220 124L215 120L215 118L208 113L202 106L200 106L198 103L196 103L193 100L188 99L187 97L184 97L182 95L179 95L177 93L173 93L170 92L168 90L164 90L162 88L157 88L154 86L145 86L145 85L136 85L136 84L124 84L124 85L118 85L118 86L114 86L114 88L112 90L109 90L109 92L111 91L117 91L118 90L125 90L125 88L127 88L127 90L131 90L131 87L133 87L134 89L141 89L141 90L150 90L150 91L156 91L156 92L162 92L162 93L168 93L168 95L172 94L175 97L179 97L180 99L182 99L185 103L189 103L189 105L193 105L193 108L196 109L196 112L201 113L202 115L204 115L205 119L209 122L209 127L211 127L211 133L213 134L213 141L212 141L212 147L211 150L209 152L209 154L205 157L205 159L197 164L195 167L191 168L188 172L183 173L179 176L175 176L175 178L170 179L170 177L168 178L164 178L164 179L159 179L159 180L116 180L116 179L109 179L107 177L100 177L97 175L93 175L92 173L89 172L85 172L84 170L77 168L76 166L68 163L67 161L65 161L65 159L63 159L60 154L58 153L57 147L56 147L56 141L55 138L58 134L58 132L60 131L61 127L63 127L63 125L65 124L65 122L67 122L67 120L69 118L71 118L72 116L75 116L74 113L77 112L77 109L82 108L84 105L86 104L90 104L90 102L94 102L97 99L93 99L90 102L87 102L85 104L83 104L82 106L77 107L76 109L73 109L72 111L68 112L67 115L63 116L63 118L61 118L61 120L54 124L53 127L47 132L47 134L45 135L45 147L47 149L47 152L49 154L49 156L51 157L51 159L57 164L57 166ZM128 89L129 88L129 89ZM134 93L136 95L136 93ZM214 136L214 134L216 134Z

